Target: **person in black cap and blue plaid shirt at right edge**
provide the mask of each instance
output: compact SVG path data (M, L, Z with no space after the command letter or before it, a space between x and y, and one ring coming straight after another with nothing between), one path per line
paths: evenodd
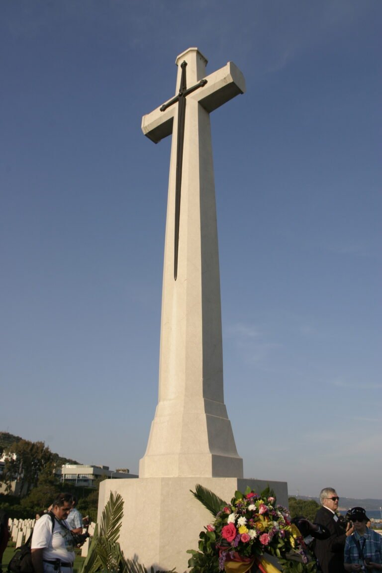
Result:
M348 517L355 531L346 539L345 571L382 571L382 536L367 527L369 518L363 507L353 507Z

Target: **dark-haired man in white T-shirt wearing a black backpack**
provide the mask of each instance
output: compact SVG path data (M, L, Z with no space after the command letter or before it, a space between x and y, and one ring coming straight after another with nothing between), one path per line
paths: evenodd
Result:
M31 540L35 573L71 573L76 543L65 520L72 501L70 493L58 494L49 513L36 521Z

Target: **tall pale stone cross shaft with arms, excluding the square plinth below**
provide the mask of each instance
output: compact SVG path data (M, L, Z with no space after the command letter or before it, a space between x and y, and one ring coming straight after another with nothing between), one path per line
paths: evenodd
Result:
M159 403L139 477L243 477L223 398L210 112L245 92L245 80L231 62L206 77L207 60L196 48L176 64L179 95L142 120L154 142L172 132L172 147Z

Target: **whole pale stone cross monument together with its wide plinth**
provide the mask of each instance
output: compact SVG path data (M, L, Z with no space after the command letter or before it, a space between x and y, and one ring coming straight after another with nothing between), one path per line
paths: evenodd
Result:
M172 134L164 248L159 401L139 478L100 485L99 519L111 491L124 499L120 545L149 569L183 573L187 549L211 515L190 493L196 484L230 501L249 485L270 485L288 504L285 482L243 478L223 397L222 324L210 113L245 92L229 62L205 75L190 48L176 59L176 95L145 115L157 143ZM249 430L249 429L248 429ZM256 444L253 444L256 450Z

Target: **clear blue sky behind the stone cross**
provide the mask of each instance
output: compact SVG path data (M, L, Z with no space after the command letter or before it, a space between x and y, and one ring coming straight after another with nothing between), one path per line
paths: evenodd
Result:
M379 0L2 0L0 430L137 472L171 144L140 124L197 46L247 83L211 115L245 476L382 497L381 23Z

